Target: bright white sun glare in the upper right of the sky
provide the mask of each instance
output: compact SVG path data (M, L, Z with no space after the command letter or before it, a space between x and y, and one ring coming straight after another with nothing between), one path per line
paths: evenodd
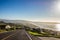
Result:
M52 13L57 14L57 15L60 14L60 0L54 1L51 7L52 7L51 8Z

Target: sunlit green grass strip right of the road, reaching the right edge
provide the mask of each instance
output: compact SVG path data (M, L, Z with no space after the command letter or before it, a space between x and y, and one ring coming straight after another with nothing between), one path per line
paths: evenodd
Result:
M49 33L43 32L43 33L37 33L37 32L32 32L28 31L29 34L34 35L34 36L39 36L39 37L55 37L55 38L60 38L60 35L53 36Z

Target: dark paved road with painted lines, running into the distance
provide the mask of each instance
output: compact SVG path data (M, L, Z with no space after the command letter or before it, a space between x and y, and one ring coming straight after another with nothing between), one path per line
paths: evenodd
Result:
M40 40L40 39L29 35L25 30L15 30L0 33L0 40Z

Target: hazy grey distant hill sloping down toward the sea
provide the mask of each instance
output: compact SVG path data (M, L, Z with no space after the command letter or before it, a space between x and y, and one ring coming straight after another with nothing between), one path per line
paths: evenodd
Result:
M14 23L14 24L23 24L27 27L31 27L31 28L34 28L34 27L37 27L36 25L32 24L31 21L26 21L26 20L6 20L6 19L0 19L0 21L3 21L5 23Z

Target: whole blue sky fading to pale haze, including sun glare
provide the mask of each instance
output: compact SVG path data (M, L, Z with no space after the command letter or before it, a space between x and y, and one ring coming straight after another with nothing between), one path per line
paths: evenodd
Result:
M0 0L0 18L60 21L60 0Z

